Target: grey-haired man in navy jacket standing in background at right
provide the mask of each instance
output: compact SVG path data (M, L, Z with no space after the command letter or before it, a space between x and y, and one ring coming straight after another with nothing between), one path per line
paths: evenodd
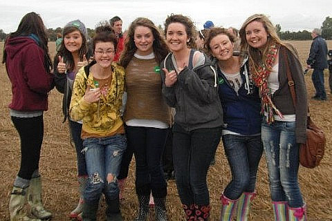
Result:
M327 68L327 45L320 34L321 30L318 28L311 32L313 43L311 44L309 57L306 60L306 68L313 68L311 79L313 80L316 93L311 98L324 101L327 99L324 86L324 69Z

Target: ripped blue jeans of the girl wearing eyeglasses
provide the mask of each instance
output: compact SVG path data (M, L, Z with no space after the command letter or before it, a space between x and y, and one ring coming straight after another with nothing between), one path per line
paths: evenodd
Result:
M84 191L84 200L88 204L99 202L100 195L114 200L118 198L118 174L122 154L127 148L125 135L83 140L86 170L89 180Z

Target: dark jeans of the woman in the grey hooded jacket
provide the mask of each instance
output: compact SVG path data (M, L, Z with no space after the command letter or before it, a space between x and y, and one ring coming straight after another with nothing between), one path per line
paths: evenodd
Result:
M220 142L221 130L220 127L185 131L180 125L174 124L173 163L182 204L210 204L206 175Z

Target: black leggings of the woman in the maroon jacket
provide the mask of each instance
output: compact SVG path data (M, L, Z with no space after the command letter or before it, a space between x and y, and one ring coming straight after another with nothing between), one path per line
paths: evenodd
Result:
M43 115L39 117L12 117L21 140L21 166L18 176L30 180L39 168L40 149L44 135Z

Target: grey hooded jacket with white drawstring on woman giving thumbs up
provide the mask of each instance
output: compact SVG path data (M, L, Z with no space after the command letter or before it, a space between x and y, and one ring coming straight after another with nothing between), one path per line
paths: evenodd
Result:
M176 70L172 53L169 53L160 65L163 96L167 104L176 109L174 122L185 131L223 126L223 109L218 94L216 71L206 55L204 63L193 68L192 57L195 51L191 50L188 67L178 73L177 81L171 87L165 86L163 68Z

